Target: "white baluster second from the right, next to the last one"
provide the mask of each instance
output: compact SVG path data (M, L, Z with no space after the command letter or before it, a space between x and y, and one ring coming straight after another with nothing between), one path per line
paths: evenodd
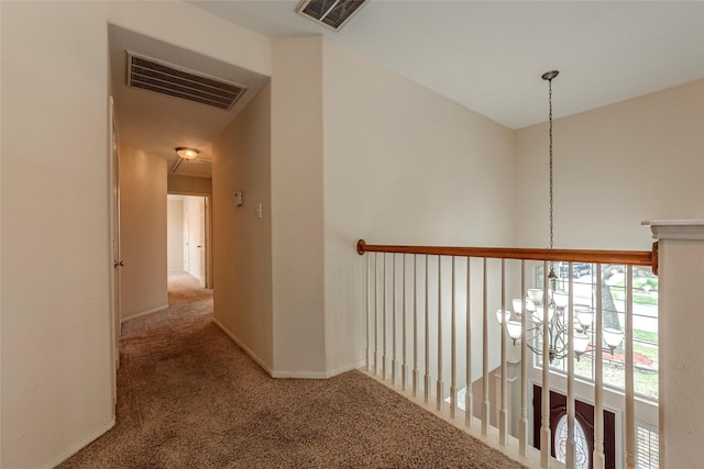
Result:
M594 358L594 469L604 469L604 346L602 265L596 265L596 356Z

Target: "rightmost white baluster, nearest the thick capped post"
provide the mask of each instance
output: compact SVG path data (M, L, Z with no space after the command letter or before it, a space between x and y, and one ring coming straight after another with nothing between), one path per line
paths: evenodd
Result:
M626 269L626 467L636 467L634 398L634 267Z

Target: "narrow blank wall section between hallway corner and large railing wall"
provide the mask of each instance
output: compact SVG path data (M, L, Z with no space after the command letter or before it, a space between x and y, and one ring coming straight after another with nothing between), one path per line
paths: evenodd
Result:
M277 40L272 78L274 365L326 376L322 38Z

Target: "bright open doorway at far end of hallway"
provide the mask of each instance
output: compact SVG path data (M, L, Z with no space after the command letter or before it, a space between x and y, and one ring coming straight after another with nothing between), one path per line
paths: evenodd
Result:
M212 288L210 276L210 200L207 196L167 196L167 268Z

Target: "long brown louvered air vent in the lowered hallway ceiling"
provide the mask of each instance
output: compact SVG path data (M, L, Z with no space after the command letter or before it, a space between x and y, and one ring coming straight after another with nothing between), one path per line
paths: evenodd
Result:
M230 110L245 87L128 51L128 86Z

